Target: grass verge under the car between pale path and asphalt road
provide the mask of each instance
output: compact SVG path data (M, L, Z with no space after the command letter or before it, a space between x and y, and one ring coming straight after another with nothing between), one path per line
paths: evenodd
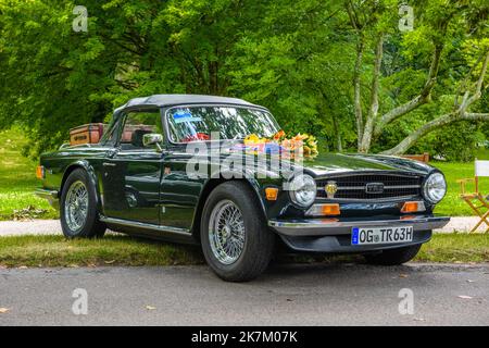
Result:
M277 262L364 262L360 256L284 257ZM489 262L489 234L437 234L414 261ZM0 238L0 268L202 264L200 248L124 235L66 240L63 236Z

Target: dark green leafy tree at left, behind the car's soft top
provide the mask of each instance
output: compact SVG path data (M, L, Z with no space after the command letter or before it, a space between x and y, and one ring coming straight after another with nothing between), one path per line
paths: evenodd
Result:
M87 0L88 32L75 33L74 1L0 0L0 126L25 127L36 154L131 97L226 94L226 58L260 5Z

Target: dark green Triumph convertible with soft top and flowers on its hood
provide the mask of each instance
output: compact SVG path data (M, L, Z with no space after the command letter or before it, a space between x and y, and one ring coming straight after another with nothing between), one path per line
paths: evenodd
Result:
M279 144L244 140L279 129L267 109L240 99L133 99L99 142L43 153L36 194L60 209L68 238L110 228L197 243L212 270L236 282L260 275L278 244L400 264L448 223L432 214L447 186L437 169L387 156L299 161Z

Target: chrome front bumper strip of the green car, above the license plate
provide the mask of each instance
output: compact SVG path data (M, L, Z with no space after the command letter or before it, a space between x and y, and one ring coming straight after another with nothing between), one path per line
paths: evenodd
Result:
M409 225L414 231L431 231L447 225L450 217L432 215L269 220L268 226L284 236L349 235L353 227L392 227Z

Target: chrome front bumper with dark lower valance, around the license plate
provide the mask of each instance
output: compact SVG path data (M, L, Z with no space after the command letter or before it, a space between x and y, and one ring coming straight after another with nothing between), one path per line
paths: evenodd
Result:
M292 250L300 252L351 253L376 252L387 249L419 245L431 238L431 229L443 227L450 217L419 215L387 216L383 219L310 219L279 221L271 220L268 226L281 237ZM413 226L413 240L409 243L352 245L353 227Z

